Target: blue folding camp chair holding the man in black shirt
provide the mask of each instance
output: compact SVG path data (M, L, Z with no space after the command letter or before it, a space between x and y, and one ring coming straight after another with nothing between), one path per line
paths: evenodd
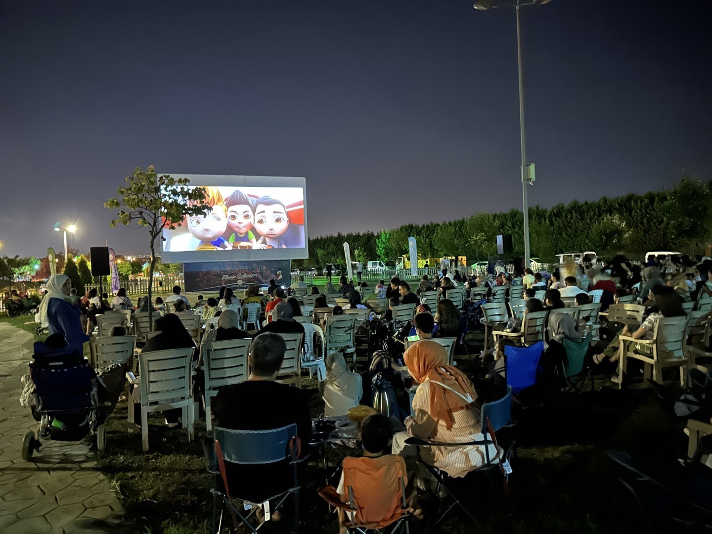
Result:
M289 424L272 430L234 430L221 426L214 428L213 447L206 446L208 471L215 475L213 494L213 520L212 530L214 534L221 532L222 511L218 513L219 504L227 506L236 527L244 525L252 533L257 533L265 520L261 520L257 526L249 523L252 515L256 515L258 507L267 501L277 501L276 506L270 506L273 513L277 511L289 496L294 498L294 532L299 532L299 483L297 476L297 465L307 459L308 455L300 459L301 444L297 436L297 425ZM286 491L278 493L267 499L255 500L254 496L231 495L225 468L225 462L239 465L267 465L276 462L288 461L294 470L294 483ZM224 491L218 487L221 477ZM234 506L231 499L236 498L246 505L251 505L250 512L244 515Z

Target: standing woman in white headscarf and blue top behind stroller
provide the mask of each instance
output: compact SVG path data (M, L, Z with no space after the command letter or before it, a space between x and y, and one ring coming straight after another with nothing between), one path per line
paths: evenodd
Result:
M56 274L47 283L47 293L39 308L39 321L48 328L50 335L60 334L75 350L82 350L82 343L89 336L82 330L81 312L78 306L67 302L72 283L68 276Z

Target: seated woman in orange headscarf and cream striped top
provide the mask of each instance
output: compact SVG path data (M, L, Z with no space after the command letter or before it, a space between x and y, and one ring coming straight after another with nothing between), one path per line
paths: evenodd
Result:
M405 420L407 431L393 436L392 451L403 457L409 471L416 459L415 447L405 444L410 436L448 444L484 439L480 413L474 406L477 393L463 372L446 365L447 352L442 345L421 340L405 352L404 360L419 384L413 399L415 417ZM501 449L489 448L491 461L496 461ZM420 457L453 477L463 477L486 461L484 447L477 445L422 447Z

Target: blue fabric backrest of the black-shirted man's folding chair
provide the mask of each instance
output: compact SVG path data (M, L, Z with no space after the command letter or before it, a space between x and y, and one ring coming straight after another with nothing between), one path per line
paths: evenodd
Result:
M288 424L272 430L236 430L214 428L225 461L231 464L274 464L291 459L290 442L297 435L297 425Z

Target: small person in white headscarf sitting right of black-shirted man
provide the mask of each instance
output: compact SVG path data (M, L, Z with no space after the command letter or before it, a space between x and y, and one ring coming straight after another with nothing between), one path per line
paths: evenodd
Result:
M346 415L349 409L360 404L363 394L361 375L350 372L340 352L326 358L326 379L319 384L324 399L324 415Z

